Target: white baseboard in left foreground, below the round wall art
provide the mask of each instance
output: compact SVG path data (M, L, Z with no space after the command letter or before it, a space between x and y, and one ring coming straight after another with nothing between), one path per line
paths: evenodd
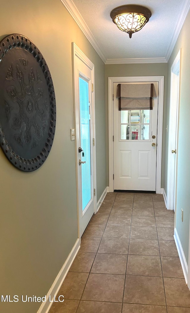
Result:
M52 300L54 295L56 296L61 285L63 284L63 281L65 280L65 277L78 253L78 250L80 249L81 240L78 238L76 243L73 246L73 249L68 255L67 260L63 264L63 267L61 268L60 272L58 273L58 276L53 282L53 285L51 286L50 290L48 291L46 295L46 302L42 302L42 305L40 306L37 313L48 313L50 310L50 307L52 306L53 302L49 302L49 296ZM64 296L64 295L63 295Z

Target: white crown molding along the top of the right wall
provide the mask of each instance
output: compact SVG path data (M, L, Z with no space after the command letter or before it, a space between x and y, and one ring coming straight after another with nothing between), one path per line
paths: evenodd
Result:
M190 0L185 0L184 1L184 4L183 4L183 8L180 12L180 16L178 18L178 22L176 24L176 27L174 29L174 32L173 32L173 36L172 36L172 39L171 39L171 42L169 44L169 48L168 48L168 51L166 53L166 60L168 62L171 54L172 54L172 51L173 51L173 48L176 44L176 41L178 39L178 36L179 36L179 33L183 27L183 24L185 22L185 19L187 17L187 14L189 12L189 9L190 9Z

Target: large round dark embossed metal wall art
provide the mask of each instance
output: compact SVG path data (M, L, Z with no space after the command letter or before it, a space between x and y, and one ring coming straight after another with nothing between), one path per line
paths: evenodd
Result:
M45 162L55 134L51 74L37 47L23 35L0 42L0 146L19 170Z

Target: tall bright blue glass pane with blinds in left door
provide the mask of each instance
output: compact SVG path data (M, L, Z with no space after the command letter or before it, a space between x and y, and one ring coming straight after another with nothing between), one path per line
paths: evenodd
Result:
M88 81L79 77L79 102L80 102L80 125L81 147L84 152L81 164L82 173L82 208L83 210L91 200L91 162L90 162L90 120L89 120L89 95ZM82 154L81 154L82 156Z

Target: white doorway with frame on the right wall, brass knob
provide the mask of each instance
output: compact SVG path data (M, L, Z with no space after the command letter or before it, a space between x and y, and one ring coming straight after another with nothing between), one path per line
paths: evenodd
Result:
M181 49L179 50L171 67L171 84L170 84L167 209L174 211L176 209L176 196L177 196L176 187L177 187L177 165L178 165L180 62L181 62ZM176 155L172 154L172 150L175 149L177 151Z

